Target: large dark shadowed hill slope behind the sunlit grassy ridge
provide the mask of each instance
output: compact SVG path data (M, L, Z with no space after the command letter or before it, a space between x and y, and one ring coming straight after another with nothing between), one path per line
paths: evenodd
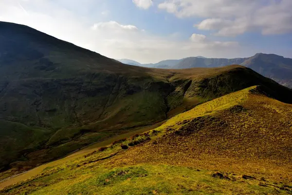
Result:
M0 178L246 87L292 101L291 90L242 66L130 66L7 22L0 42L0 169L8 170Z

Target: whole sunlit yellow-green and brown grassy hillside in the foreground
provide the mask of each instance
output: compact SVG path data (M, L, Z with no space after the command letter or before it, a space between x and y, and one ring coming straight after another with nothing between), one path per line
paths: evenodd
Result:
M0 192L291 194L292 105L267 95L254 86L216 98Z

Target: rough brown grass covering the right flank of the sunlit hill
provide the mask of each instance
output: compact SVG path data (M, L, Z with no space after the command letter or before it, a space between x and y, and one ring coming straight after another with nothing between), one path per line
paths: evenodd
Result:
M172 164L292 182L292 105L249 94L242 105L197 117L111 163Z

